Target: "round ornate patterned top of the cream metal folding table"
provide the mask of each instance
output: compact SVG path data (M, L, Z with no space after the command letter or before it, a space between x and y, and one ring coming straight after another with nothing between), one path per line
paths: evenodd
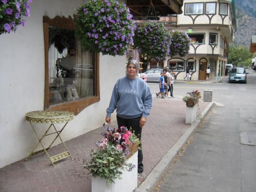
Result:
M31 111L26 113L26 120L35 123L65 123L73 120L74 114L69 111Z

